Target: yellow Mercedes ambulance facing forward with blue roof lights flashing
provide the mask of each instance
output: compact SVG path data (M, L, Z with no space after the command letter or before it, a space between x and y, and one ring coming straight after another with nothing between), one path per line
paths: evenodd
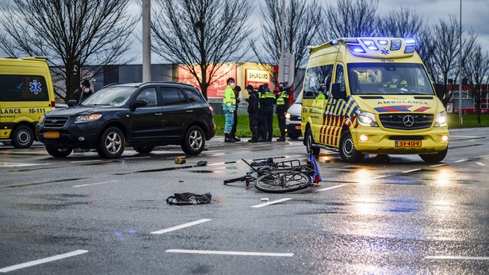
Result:
M442 85L428 77L411 38L340 38L309 47L301 131L307 152L418 154L442 161L448 150Z

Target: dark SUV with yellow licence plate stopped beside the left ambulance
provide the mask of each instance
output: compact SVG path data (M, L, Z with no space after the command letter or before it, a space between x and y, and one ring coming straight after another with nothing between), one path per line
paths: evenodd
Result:
M216 131L212 107L200 91L178 82L112 84L68 105L46 113L36 126L51 156L81 148L118 158L126 146L149 153L168 144L196 155Z

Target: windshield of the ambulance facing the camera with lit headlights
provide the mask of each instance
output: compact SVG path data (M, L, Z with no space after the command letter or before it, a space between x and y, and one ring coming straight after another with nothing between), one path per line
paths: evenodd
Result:
M422 64L348 64L350 91L355 94L422 94L434 96Z

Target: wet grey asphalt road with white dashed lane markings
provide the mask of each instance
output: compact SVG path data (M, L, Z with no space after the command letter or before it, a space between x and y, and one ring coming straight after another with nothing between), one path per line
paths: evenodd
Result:
M222 181L247 172L241 158L304 159L300 141L214 146L184 165L173 161L179 151L128 148L108 161L3 146L0 272L488 274L489 128L451 131L449 144L441 165L418 156L347 164L321 151L323 182L286 194ZM210 192L212 202L166 204L183 192ZM261 198L284 201L252 207Z

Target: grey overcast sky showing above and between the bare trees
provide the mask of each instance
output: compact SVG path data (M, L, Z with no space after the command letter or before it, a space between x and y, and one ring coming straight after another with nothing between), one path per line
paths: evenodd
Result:
M261 3L260 0L249 0ZM336 0L319 0L322 3L335 3ZM154 1L152 1L154 2ZM413 8L416 12L423 16L425 22L429 25L437 24L440 19L448 20L448 15L455 15L460 18L460 0L379 0L377 15L385 15L391 10L397 10L401 6ZM134 13L140 13L140 0L132 0L131 7ZM245 11L244 11L245 12ZM261 34L259 8L251 13L251 20L255 25L254 37ZM489 51L489 0L462 0L462 25L464 29L474 30L474 34L478 36L478 41L483 49ZM135 30L136 34L140 34L141 24L138 24ZM453 43L458 43L453 41ZM137 56L138 59L133 64L141 64L142 45L138 39L135 39L133 47L127 53L128 56ZM0 57L6 54L0 50ZM165 63L163 59L156 54L152 54L152 63Z

